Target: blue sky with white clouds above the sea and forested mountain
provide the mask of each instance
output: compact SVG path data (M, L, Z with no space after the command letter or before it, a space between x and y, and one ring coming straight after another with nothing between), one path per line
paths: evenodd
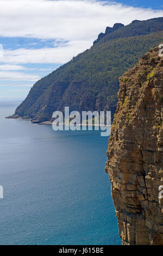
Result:
M160 0L0 0L0 101L24 100L106 26L161 16Z

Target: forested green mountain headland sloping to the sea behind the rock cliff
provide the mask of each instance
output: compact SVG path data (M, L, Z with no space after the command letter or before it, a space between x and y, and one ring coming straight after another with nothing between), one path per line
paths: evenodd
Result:
M12 118L41 123L51 120L54 111L64 111L65 106L70 111L108 110L114 114L118 77L161 41L162 17L107 27L106 34L89 50L36 82Z

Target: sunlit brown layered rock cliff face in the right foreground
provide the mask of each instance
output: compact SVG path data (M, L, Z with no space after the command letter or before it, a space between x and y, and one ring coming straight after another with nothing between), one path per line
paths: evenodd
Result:
M163 57L145 54L120 78L106 173L123 245L163 245Z

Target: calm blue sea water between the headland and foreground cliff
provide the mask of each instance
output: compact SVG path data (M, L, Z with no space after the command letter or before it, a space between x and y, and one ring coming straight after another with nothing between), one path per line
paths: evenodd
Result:
M1 245L120 245L100 131L5 119L0 102Z

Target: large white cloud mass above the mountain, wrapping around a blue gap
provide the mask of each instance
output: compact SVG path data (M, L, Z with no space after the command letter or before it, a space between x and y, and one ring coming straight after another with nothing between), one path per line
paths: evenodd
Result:
M4 63L63 64L92 45L106 26L163 16L163 10L82 0L0 0L0 36L55 39L54 48L4 50ZM68 41L65 43L65 41ZM34 43L35 44L35 43Z

